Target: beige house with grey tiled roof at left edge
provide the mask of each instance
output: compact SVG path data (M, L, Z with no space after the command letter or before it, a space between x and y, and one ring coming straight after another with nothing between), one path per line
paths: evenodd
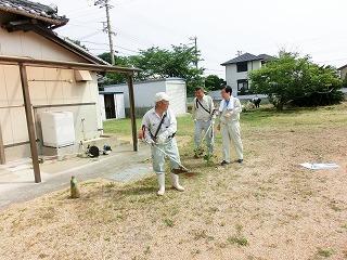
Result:
M105 65L99 57L52 31L67 21L43 4L25 0L0 1L0 55ZM73 114L73 150L79 141L100 136L102 119L95 72L68 66L27 66L26 70L40 154L47 152L40 121L40 115L46 112ZM20 67L5 63L0 63L0 130L7 160L29 157Z

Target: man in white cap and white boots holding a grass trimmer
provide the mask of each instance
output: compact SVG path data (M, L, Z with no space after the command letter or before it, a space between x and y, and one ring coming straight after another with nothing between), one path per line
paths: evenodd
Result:
M155 94L155 107L149 110L142 119L142 135L152 145L153 170L157 173L159 184L157 195L160 196L165 193L165 154L162 151L168 155L170 160L172 186L177 191L184 191L184 187L179 184L177 173L187 172L180 165L180 155L175 139L177 120L168 106L169 96L165 92L158 92Z

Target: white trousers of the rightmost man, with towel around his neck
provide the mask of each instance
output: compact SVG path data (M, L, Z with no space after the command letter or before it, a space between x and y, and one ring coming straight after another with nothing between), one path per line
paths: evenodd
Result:
M232 142L236 152L237 159L243 159L243 145L241 141L241 131L239 121L221 123L221 138L223 145L223 160L230 162L230 143Z

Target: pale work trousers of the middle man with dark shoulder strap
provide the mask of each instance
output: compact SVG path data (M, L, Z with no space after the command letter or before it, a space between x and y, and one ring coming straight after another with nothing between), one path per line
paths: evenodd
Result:
M206 146L208 148L208 154L214 153L214 129L211 125L211 120L195 120L195 131L194 131L194 143L195 150L200 148L201 140L204 135L206 141ZM206 133L207 129L209 128L208 132Z

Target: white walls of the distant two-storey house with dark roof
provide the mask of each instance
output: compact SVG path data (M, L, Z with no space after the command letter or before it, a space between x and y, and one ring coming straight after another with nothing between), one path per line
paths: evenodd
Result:
M247 72L237 73L236 64L229 64L226 66L226 81L227 84L232 88L233 94L237 95L237 80L248 79L248 73L259 69L261 67L260 61L253 61L247 63ZM248 81L248 88L252 88L250 81Z

